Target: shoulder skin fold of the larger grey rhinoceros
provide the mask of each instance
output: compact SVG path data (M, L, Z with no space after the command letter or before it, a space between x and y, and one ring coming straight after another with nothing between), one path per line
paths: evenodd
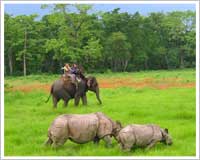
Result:
M96 115L99 119L99 128L97 131L97 136L99 138L102 138L106 135L112 135L113 121L101 112L97 112Z

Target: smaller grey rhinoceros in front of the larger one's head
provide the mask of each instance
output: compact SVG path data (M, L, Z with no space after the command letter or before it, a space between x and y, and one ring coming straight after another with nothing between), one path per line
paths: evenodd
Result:
M168 129L162 129L158 125L127 125L119 131L116 136L118 143L124 151L130 151L132 147L153 147L157 142L163 142L167 145L172 144L172 138Z

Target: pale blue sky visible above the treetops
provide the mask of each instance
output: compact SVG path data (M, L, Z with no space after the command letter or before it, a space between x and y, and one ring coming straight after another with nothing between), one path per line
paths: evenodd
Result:
M135 13L146 16L150 12L170 12L170 11L195 11L195 4L94 4L93 12L112 11L120 8L120 12ZM30 15L37 13L40 17L50 13L50 8L41 9L41 4L5 4L6 13L17 15Z

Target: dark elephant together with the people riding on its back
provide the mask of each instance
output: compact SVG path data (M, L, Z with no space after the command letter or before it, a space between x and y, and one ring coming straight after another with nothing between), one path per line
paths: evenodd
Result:
M51 85L50 89L49 98L52 96L54 107L57 107L60 100L63 100L64 106L67 106L70 99L74 99L75 106L79 105L80 100L83 105L87 105L87 91L94 92L99 104L102 104L99 84L95 77L85 77L83 70L77 66L72 68L66 64L62 69L64 69L64 74Z

